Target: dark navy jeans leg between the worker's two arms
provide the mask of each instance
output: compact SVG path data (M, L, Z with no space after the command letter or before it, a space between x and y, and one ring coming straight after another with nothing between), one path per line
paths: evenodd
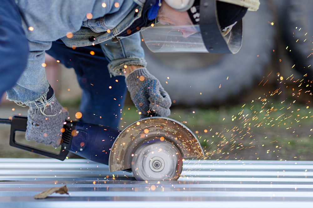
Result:
M90 55L94 51L95 55ZM74 68L78 83L83 90L80 103L81 121L117 128L123 109L126 84L124 76L110 77L100 45L78 47L75 50L54 41L50 56L67 68Z

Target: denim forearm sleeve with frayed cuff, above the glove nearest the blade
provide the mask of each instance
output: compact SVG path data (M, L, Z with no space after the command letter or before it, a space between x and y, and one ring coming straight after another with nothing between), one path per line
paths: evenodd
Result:
M120 39L117 43L105 41L100 43L105 56L110 61L108 69L111 75L123 75L124 65L140 65L146 67L140 34Z

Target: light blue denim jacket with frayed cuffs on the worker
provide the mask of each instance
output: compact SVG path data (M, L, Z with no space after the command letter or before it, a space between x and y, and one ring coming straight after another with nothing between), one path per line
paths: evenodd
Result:
M49 90L45 51L62 38L69 47L100 44L111 75L121 74L124 65L146 66L138 33L111 42L141 17L146 0L15 0L28 38L28 64L7 99L22 105L45 100ZM106 70L106 69L103 69ZM48 101L49 102L49 101Z

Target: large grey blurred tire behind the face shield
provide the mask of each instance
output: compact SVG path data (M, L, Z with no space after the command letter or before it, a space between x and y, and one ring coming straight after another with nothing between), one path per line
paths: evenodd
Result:
M247 12L243 45L235 55L152 53L146 48L147 69L160 80L173 105L224 104L256 86L269 65L275 33L268 22L271 17L268 1L262 1L257 12Z

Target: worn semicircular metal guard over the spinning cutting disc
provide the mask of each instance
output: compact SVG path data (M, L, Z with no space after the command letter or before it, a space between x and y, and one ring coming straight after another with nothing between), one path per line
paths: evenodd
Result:
M182 159L203 159L196 136L182 123L165 117L148 117L125 128L113 143L109 157L110 172L131 169L134 152L151 142L170 142Z

